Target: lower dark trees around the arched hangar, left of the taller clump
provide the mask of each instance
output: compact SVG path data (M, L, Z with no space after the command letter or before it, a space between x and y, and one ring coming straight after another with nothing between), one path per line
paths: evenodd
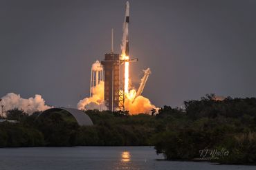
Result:
M19 123L0 123L0 147L36 146L145 146L155 126L161 124L154 116L129 116L122 111L85 111L93 120L91 127L80 127L66 111L46 116L39 112L28 115L17 109L7 112L8 120Z

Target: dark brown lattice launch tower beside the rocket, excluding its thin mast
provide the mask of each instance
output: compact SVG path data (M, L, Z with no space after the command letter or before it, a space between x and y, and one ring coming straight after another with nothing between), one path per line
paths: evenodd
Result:
M119 66L120 55L113 52L105 54L104 61L104 101L111 111L119 106Z

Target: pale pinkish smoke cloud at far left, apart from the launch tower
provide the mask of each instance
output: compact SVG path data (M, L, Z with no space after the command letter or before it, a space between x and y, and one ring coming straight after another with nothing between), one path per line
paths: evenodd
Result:
M50 109L48 105L45 105L45 101L41 95L36 94L35 98L21 98L19 94L8 93L1 98L1 105L3 105L4 111L10 109L21 109L27 114L33 114L35 111L44 111Z

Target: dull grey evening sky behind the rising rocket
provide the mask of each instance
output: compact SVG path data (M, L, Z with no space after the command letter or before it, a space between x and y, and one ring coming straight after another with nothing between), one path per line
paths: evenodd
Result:
M255 0L130 1L131 76L158 107L209 93L256 96ZM41 94L75 107L89 96L91 63L120 52L125 1L1 0L0 96Z

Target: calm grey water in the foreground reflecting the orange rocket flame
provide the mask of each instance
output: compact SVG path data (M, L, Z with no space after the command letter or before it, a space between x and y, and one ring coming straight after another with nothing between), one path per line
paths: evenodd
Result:
M0 169L255 170L256 166L164 161L154 147L29 147L0 149Z

